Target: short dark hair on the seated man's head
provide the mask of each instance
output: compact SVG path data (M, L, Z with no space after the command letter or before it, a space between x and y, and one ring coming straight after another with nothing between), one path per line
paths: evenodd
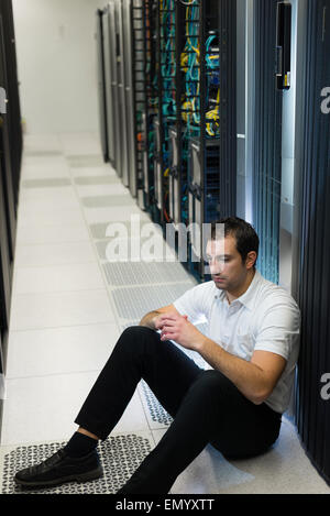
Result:
M243 263L251 251L255 251L257 256L260 244L258 235L249 222L243 219L239 219L238 217L228 217L217 220L211 223L211 240L217 239L217 224L224 224L224 237L228 237L229 234L234 237L237 241L237 250L240 253Z

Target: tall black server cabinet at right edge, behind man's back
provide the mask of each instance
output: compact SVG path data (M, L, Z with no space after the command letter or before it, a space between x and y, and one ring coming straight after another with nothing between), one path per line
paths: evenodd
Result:
M307 2L297 425L330 484L330 0Z

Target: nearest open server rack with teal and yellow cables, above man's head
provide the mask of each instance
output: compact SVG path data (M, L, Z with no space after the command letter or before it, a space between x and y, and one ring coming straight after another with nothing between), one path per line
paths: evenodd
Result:
M185 112L191 125L184 132L188 135L188 221L193 224L188 263L194 274L206 279L208 231L204 224L237 211L237 6L232 0L200 1L188 14L187 7L186 20L190 19L194 35L188 52L197 54L194 73L186 79Z

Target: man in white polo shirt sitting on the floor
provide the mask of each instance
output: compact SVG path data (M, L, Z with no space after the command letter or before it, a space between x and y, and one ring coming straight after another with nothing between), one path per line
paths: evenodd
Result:
M117 425L141 378L174 420L119 493L168 493L209 442L226 457L248 458L276 441L298 358L299 309L255 270L254 229L238 218L219 223L224 233L219 237L213 223L207 243L212 281L122 333L76 418L78 431L55 455L19 472L19 484L99 477L98 441ZM194 326L200 316L208 336ZM172 341L200 353L210 369L198 367Z

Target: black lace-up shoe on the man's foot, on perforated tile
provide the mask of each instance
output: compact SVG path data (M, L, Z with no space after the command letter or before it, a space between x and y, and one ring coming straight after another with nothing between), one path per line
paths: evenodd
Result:
M65 482L88 482L102 475L103 470L96 450L88 455L73 459L61 449L41 464L19 471L14 481L23 487L47 487Z

